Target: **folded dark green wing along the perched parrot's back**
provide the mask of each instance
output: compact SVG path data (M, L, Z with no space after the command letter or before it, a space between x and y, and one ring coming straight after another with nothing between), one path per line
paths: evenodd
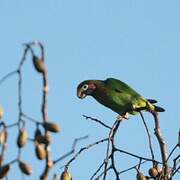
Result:
M127 93L127 94L130 94L131 96L140 97L140 94L138 94L134 89L132 89L126 83L118 79L108 78L104 81L104 83L113 91L116 91L119 93Z

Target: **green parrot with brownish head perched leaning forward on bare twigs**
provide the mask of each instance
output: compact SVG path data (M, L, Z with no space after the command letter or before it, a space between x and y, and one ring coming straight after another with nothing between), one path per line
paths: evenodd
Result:
M154 105L156 100L143 98L129 85L114 78L81 82L77 87L77 96L83 99L87 95L118 113L118 119L127 119L128 114L135 115L138 110L165 111Z

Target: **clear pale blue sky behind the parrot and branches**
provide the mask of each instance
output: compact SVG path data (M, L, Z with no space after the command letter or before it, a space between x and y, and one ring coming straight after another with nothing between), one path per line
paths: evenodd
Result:
M89 135L77 150L108 134L98 124L86 121L82 114L99 118L112 125L116 113L104 108L92 98L76 97L77 85L85 79L114 77L130 84L140 94L154 98L166 109L161 114L163 135L171 150L177 143L179 130L180 77L180 1L178 0L1 0L0 1L0 77L17 68L22 57L22 43L40 40L45 46L49 72L49 116L62 128L53 135L52 153L56 159L71 149L73 140ZM23 80L23 110L40 119L41 78L32 63L25 63ZM0 104L5 109L7 124L17 121L17 78L12 77L0 87ZM151 128L154 149L159 146L153 135L153 119L145 113ZM29 124L32 136L34 126ZM17 130L10 130L10 137ZM142 156L149 156L147 135L139 116L131 117L119 129L118 147ZM6 162L17 153L9 141ZM74 161L70 171L74 180L91 177L105 157L103 145L87 150ZM178 154L178 152L176 152ZM38 179L40 166L30 142L22 157L33 164L33 176ZM70 157L69 157L70 158ZM51 171L61 173L60 162ZM126 155L117 157L119 170L138 161ZM149 165L149 166L148 166ZM150 164L143 172L147 173ZM135 179L135 171L122 175L122 180ZM51 179L50 177L50 179ZM14 165L9 179L21 179ZM174 180L178 180L176 176ZM114 180L110 174L108 180Z

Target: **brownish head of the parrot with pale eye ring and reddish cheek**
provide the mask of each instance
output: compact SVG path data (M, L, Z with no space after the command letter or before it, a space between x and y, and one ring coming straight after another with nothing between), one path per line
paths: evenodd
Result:
M91 80L83 81L77 87L77 96L80 99L83 99L87 95L92 95L95 89L96 89L96 85L93 81Z

